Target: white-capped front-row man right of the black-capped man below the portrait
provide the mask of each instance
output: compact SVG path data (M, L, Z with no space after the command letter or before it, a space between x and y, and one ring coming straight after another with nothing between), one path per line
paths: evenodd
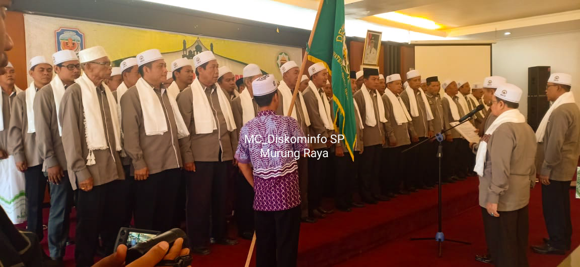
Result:
M415 184L418 183L419 177L415 177L415 172L412 172L413 169L418 168L418 162L413 160L416 154L402 153L411 144L411 135L415 133L415 128L411 114L400 96L404 91L401 76L389 75L385 81L387 90L382 99L387 123L384 124L386 142L383 144L382 162L385 164L382 169L381 187L383 194L392 197L396 194L409 194L416 191Z

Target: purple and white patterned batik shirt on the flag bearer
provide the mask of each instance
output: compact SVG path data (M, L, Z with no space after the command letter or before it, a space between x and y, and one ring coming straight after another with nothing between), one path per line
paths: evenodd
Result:
M235 159L253 166L254 210L287 210L300 205L295 157L307 147L298 122L273 110L258 112L240 129Z

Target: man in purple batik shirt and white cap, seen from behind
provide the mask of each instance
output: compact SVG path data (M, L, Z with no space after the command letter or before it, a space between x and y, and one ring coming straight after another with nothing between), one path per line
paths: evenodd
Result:
M304 137L296 120L276 114L280 101L274 76L255 79L252 89L260 112L241 128L235 158L255 191L256 266L296 266L300 233L296 159L306 152L308 144L249 141L257 135L290 136L298 140Z

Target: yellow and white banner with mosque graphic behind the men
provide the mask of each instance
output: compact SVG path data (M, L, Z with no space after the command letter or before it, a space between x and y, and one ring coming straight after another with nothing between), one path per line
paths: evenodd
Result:
M113 65L148 49L159 49L167 65L177 58L191 60L203 51L211 50L220 66L229 66L236 77L241 77L245 65L258 64L262 72L282 79L280 66L289 60L302 62L302 48L277 46L177 34L153 29L70 20L66 18L24 14L26 31L26 58L44 55L51 58L56 51L79 51L87 47L103 46ZM192 62L193 65L193 62ZM30 83L30 77L29 83Z

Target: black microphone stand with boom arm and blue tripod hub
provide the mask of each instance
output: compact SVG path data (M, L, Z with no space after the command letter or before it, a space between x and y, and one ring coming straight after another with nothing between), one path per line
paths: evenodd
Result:
M473 117L473 115L470 117ZM438 204L438 228L437 229L438 230L437 230L437 233L435 234L435 241L437 241L439 257L441 257L443 255L442 246L443 246L443 241L445 241L445 235L443 234L443 220L442 220L442 216L441 216L441 210L443 210L443 206L442 206L443 203L441 202L441 157L443 157L443 141L445 140L444 134L445 134L445 132L448 132L451 129L458 127L459 125L465 123L466 121L469 121L470 117L466 118L464 121L455 125L454 127L446 129L445 131L441 131L440 133L436 134L435 136L428 138L428 139L425 139L419 143L414 144L414 146L411 146L408 149L403 150L403 153L405 153L408 150L414 149L416 146L419 146L420 144L425 143L429 140L433 140L433 139L437 139L437 141L439 142L439 146L437 147L437 155L436 155L436 157L439 159L439 185L437 187L437 190L438 190L438 203L437 203ZM411 240L433 240L433 238L411 238ZM461 243L461 244L471 244L469 242L453 240L453 239L447 239L447 241Z

